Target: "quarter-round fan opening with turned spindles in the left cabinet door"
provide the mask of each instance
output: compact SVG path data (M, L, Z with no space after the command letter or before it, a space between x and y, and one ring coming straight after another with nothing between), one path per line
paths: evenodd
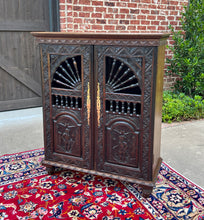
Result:
M52 87L77 89L81 87L81 56L75 56L63 61L56 69Z

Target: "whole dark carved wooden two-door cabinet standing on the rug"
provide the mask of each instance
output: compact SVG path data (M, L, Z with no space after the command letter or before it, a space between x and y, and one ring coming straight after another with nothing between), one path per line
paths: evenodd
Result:
M45 160L137 183L160 169L167 34L33 33L40 44Z

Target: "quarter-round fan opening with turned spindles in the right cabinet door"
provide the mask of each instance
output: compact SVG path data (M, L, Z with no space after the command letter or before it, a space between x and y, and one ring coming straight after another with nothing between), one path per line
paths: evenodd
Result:
M112 93L141 95L136 74L122 61L106 57L106 90Z

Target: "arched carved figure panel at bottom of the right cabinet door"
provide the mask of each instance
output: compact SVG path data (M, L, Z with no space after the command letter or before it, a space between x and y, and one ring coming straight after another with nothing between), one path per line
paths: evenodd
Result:
M108 163L138 167L139 132L126 121L106 127L106 158Z

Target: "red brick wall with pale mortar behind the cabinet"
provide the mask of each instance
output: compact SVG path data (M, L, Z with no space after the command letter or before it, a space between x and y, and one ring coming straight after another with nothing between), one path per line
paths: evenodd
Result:
M167 32L179 29L188 0L60 0L62 32ZM172 44L171 38L168 44ZM166 49L166 57L171 57ZM164 78L164 89L176 78Z

